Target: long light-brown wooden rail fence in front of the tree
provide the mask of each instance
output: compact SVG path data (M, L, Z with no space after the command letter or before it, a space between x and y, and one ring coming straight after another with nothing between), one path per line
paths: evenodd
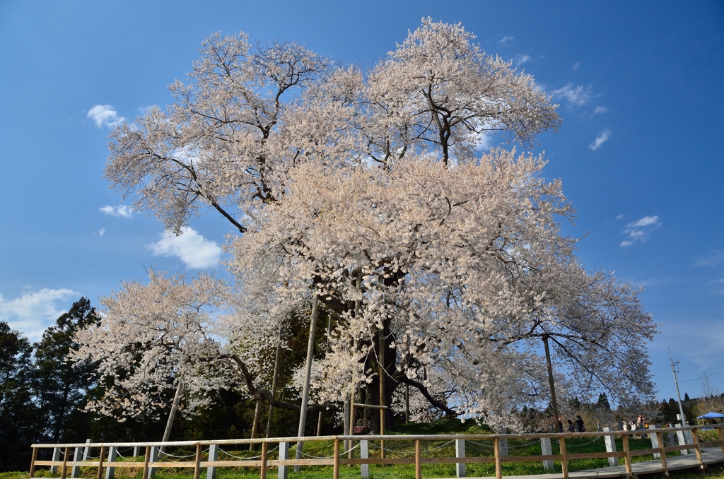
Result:
M722 428L724 426L720 424L716 425L694 425L684 426L678 428L652 428L648 430L638 431L595 431L586 433L531 433L531 434L448 434L448 435L424 435L424 436L310 436L303 438L258 438L258 439L233 439L224 441L172 441L172 442L145 442L145 443L81 443L81 444L33 444L33 459L30 462L30 478L32 479L35 475L35 470L38 466L50 466L52 472L57 472L60 469L60 478L67 478L67 468L72 467L72 476L77 477L77 471L80 467L96 467L97 479L103 479L104 470L106 471L105 479L113 478L113 471L117 467L137 467L143 468L143 479L149 479L149 476L153 475L156 468L160 467L188 467L193 468L194 479L200 479L201 469L206 468L207 479L214 479L216 468L218 467L257 467L260 470L259 477L266 479L266 475L269 467L277 467L279 478L286 478L287 468L289 466L332 466L332 477L339 479L340 467L342 465L362 465L362 475L364 477L365 471L367 477L369 477L369 465L395 465L395 464L408 464L415 466L415 476L417 479L421 479L422 471L421 465L423 464L458 464L458 477L465 475L464 465L466 463L494 463L495 475L497 479L502 478L502 463L504 462L544 462L544 464L552 465L552 461L560 461L561 469L563 471L563 478L568 478L568 462L575 459L602 459L602 458L615 458L609 459L610 462L618 464L618 458L623 457L626 465L626 475L628 477L633 476L631 470L631 459L632 457L654 454L654 457L658 456L661 467L659 470L651 470L650 472L665 472L668 475L667 465L667 452L682 452L686 454L687 451L692 451L696 454L697 464L704 468L704 460L702 459L702 448L704 447L716 447L721 448L724 457L724 434ZM715 429L717 431L718 440L716 441L699 441L699 431L701 429ZM686 431L691 431L691 441L684 439ZM642 433L649 434L652 436L652 448L651 449L630 449L629 438L631 436L639 436ZM670 441L669 446L665 446L664 434L665 433L676 433L679 438L679 444L673 445ZM689 433L686 433L689 435ZM615 444L613 439L615 436L620 436L623 443L623 451L615 451ZM565 441L569 438L609 438L607 439L607 452L588 452L582 454L568 454L566 451ZM557 440L560 445L559 454L550 454L550 441L551 439ZM684 439L684 440L682 440ZM534 455L534 456L508 456L507 440L541 440L542 445L547 441L548 449L542 447L542 451L549 452L545 455ZM331 457L311 457L309 459L294 459L290 458L289 446L298 442L316 442L316 441L331 441L334 444L334 452ZM348 452L342 452L341 446L344 441L358 442L357 446L361 446L361 457L344 457ZM367 454L369 444L376 441L380 443L385 441L388 445L388 450L395 449L395 443L398 441L411 441L413 443L413 451L410 454L413 457L384 457L384 454L380 454L380 457L369 457ZM430 441L455 441L456 454L455 457L423 457L423 443L429 443ZM492 448L494 449L494 455L492 457L466 457L465 456L465 441L492 441ZM350 445L353 444L350 442ZM689 443L689 444L684 444ZM218 448L219 446L230 446L230 445L251 445L261 444L261 454L258 454L256 458L244 459L237 458L234 460L218 460ZM275 454L278 459L269 458L269 446L279 444L279 453ZM399 443L398 443L399 444ZM654 446L655 444L655 446ZM193 461L161 461L159 460L159 447L165 446L167 448L195 448L195 454L190 454L189 457L193 457ZM206 461L202 459L202 453L204 447L209 446L209 458ZM460 447L462 446L462 447ZM143 462L131 462L131 461L117 461L117 452L119 448L138 448L135 449L138 452L143 452ZM38 452L41 449L53 449L52 460L39 460ZM89 451L98 451L98 457L96 460L79 460L80 450L83 449L84 457L90 457ZM276 449L276 447L274 448ZM71 451L74 451L74 458L70 460ZM169 455L169 454L167 454ZM232 454L228 454L233 457ZM183 458L182 458L183 459ZM463 465L460 467L460 465ZM462 475L460 475L462 471Z

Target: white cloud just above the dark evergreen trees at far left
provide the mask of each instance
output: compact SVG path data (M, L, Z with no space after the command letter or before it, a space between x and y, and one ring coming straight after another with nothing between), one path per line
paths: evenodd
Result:
M51 326L66 310L57 307L56 302L67 302L80 293L71 289L41 289L23 294L14 300L5 300L0 294L0 321L21 331L30 341L41 339L43 331Z

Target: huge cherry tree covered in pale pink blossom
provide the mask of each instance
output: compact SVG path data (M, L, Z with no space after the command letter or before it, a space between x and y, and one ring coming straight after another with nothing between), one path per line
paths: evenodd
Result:
M363 72L295 43L212 35L190 84L169 87L167 111L114 130L106 177L136 208L179 234L211 207L236 234L230 312L213 325L201 310L216 305L219 285L206 277L152 274L147 291L129 283L106 299L108 321L85 336L96 359L131 344L117 339L132 323L124 295L148 294L135 302L145 304L164 288L193 289L156 315L184 318L159 330L181 328L172 346L150 348L161 336L148 326L121 334L138 338L143 347L124 354L153 375L140 387L110 360L101 372L119 381L109 392L117 407L156 404L153 382L169 385L193 365L199 398L227 381L298 409L269 393L269 357L280 326L307 315L315 295L334 320L313 366L317 409L338 409L360 387L392 404L407 385L445 415L515 426L510 410L550 395L542 339L572 378L570 394L650 394L655 324L639 290L579 264L557 224L573 210L560 181L542 179L541 156L479 152L486 135L536 144L560 126L557 106L473 40L461 25L424 19ZM98 335L109 339L93 349ZM154 357L164 365L151 367Z

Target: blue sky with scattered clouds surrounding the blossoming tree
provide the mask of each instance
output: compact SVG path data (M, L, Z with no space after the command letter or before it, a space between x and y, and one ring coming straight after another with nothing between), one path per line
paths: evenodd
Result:
M0 320L38 339L81 294L151 266L219 266L227 222L182 239L119 209L102 176L109 124L171 102L204 37L244 31L374 64L421 17L463 22L560 103L539 137L578 211L589 268L645 287L658 397L724 371L724 4L719 1L0 1ZM99 106L93 110L93 106ZM114 112L114 113L113 113ZM90 113L90 115L89 115ZM724 391L724 373L712 376Z

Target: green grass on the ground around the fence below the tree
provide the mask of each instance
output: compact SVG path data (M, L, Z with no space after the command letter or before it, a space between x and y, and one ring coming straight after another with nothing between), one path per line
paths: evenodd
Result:
M481 427L474 423L463 424L460 421L455 420L442 420L432 424L408 424L400 425L396 431L391 431L390 435L399 434L452 434L452 433L466 433L466 434L487 434L491 433L487 427ZM713 439L713 438L712 438ZM702 438L702 441L706 441L707 438ZM557 441L552 442L552 453L559 454L560 449ZM629 447L631 451L640 449L650 449L651 441L647 438L630 438ZM578 454L586 452L605 452L605 444L603 438L568 438L565 441L566 451L568 454ZM370 457L379 457L379 441L370 442ZM240 446L230 446L240 447ZM309 457L332 457L334 444L332 441L319 441L309 442L305 444L304 453ZM290 447L290 457L294 457L294 446ZM541 455L541 445L539 440L535 441L521 441L521 440L510 440L508 441L508 449L510 456L537 456ZM616 440L616 450L623 451L623 444L621 439ZM231 450L223 449L223 452L219 452L219 460L225 459L237 459L237 458L248 458L252 459L254 456L258 456L259 452L253 452L248 450ZM414 457L414 443L413 441L387 441L385 444L385 451L387 457ZM170 454L176 456L188 456L190 457L168 457L164 460L169 462L177 461L193 461L193 450L192 449L177 449L169 451ZM231 454L235 457L230 457ZM273 450L269 452L269 459L277 459L278 452ZM492 440L481 440L481 441L466 441L466 455L468 457L492 457L493 456ZM678 453L669 453L668 457L673 457ZM424 441L422 443L422 456L423 457L455 457L455 443L454 441ZM208 454L203 454L202 460L206 460ZM355 450L355 457L359 457L358 449ZM633 462L641 462L646 460L652 460L652 455L635 456L632 457ZM120 460L120 459L119 459ZM137 461L143 462L143 457L127 458L122 459L125 461ZM620 459L623 464L623 458ZM568 470L573 472L576 470L593 469L596 467L607 467L607 459L576 459L568 461ZM387 479L387 478L399 478L399 479L413 479L415 477L413 465L370 465L370 478L371 479ZM272 468L267 473L267 477L276 477L276 468ZM317 479L317 478L329 478L332 476L331 466L306 466L303 467L300 472L293 472L293 468L290 467L289 479ZM115 477L117 479L139 479L141 476L141 468L130 469L130 468L118 468L115 470ZM555 462L554 470L544 470L542 462L504 462L502 464L503 475L534 475L543 474L545 472L561 472L560 462ZM96 467L81 467L80 475L82 478L95 478L97 473ZM488 476L494 477L495 465L494 464L469 464L466 465L466 475L468 477L477 476ZM206 471L202 471L205 477ZM422 465L422 475L425 478L452 478L455 477L455 465L453 464L425 464ZM676 479L724 479L724 470L722 467L710 467L710 471L703 474L696 472L672 472L673 478ZM37 477L50 477L50 471L47 467L42 467L36 472ZM216 472L216 479L251 479L258 478L259 471L256 467L224 467L219 468ZM27 472L6 472L0 474L0 479L26 479L28 477ZM193 470L189 468L164 468L159 469L156 472L156 479L188 479L193 477ZM656 479L657 475L651 475L652 479ZM360 478L360 469L358 466L349 467L343 465L340 470L340 478ZM663 479L664 476L661 476Z

